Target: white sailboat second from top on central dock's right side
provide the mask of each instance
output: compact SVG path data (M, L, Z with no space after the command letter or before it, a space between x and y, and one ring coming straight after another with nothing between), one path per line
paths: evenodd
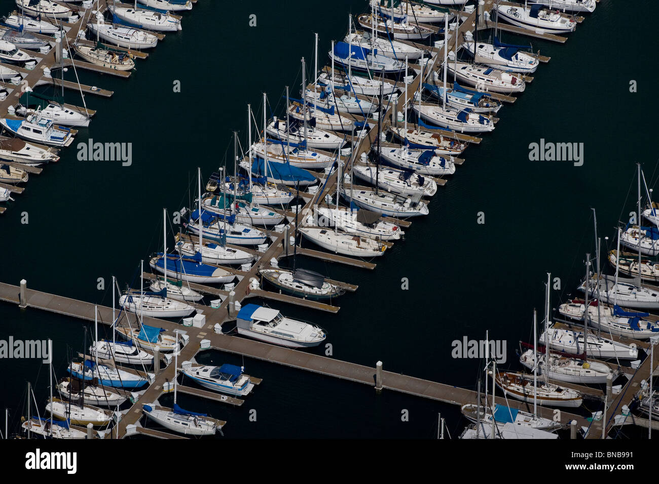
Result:
M539 34L567 34L577 29L577 22L574 18L545 9L542 5L513 7L507 3L505 5L495 5L494 9L496 9L499 19L507 20L513 25Z

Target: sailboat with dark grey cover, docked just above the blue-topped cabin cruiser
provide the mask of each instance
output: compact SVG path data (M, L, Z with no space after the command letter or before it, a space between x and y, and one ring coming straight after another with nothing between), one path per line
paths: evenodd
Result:
M280 291L304 299L330 299L343 294L339 286L329 284L325 277L307 269L261 269L261 277Z

